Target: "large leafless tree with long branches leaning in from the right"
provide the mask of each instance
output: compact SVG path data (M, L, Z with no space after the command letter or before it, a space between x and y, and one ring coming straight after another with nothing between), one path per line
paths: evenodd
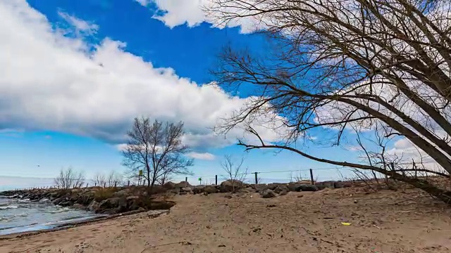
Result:
M376 171L451 202L450 191L409 176L412 164L387 152L405 138L440 166L424 173L451 173L450 1L211 1L204 8L214 22L252 20L275 42L261 57L232 48L221 55L214 70L218 84L247 85L259 96L218 132L244 127L259 141L240 140L247 150L290 150L317 162ZM273 122L282 141L268 143L256 130L262 121ZM357 143L366 160L330 160L297 148L314 129L323 133L314 143Z

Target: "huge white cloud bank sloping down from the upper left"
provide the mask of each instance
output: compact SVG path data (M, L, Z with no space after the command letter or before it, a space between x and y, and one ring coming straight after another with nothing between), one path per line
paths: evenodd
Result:
M104 39L94 51L80 37L64 37L23 1L0 1L0 129L47 129L123 143L134 117L185 122L187 143L224 146L211 129L247 99L215 85L197 85L171 68L156 68ZM78 19L74 19L78 20ZM75 22L75 24L82 24ZM80 25L86 29L92 26ZM278 135L264 125L266 141Z

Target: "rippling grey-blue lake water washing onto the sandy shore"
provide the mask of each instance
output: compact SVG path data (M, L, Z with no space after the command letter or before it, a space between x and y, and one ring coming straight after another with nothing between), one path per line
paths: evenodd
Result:
M98 216L83 210L59 207L49 200L30 202L0 196L0 235L56 228Z

